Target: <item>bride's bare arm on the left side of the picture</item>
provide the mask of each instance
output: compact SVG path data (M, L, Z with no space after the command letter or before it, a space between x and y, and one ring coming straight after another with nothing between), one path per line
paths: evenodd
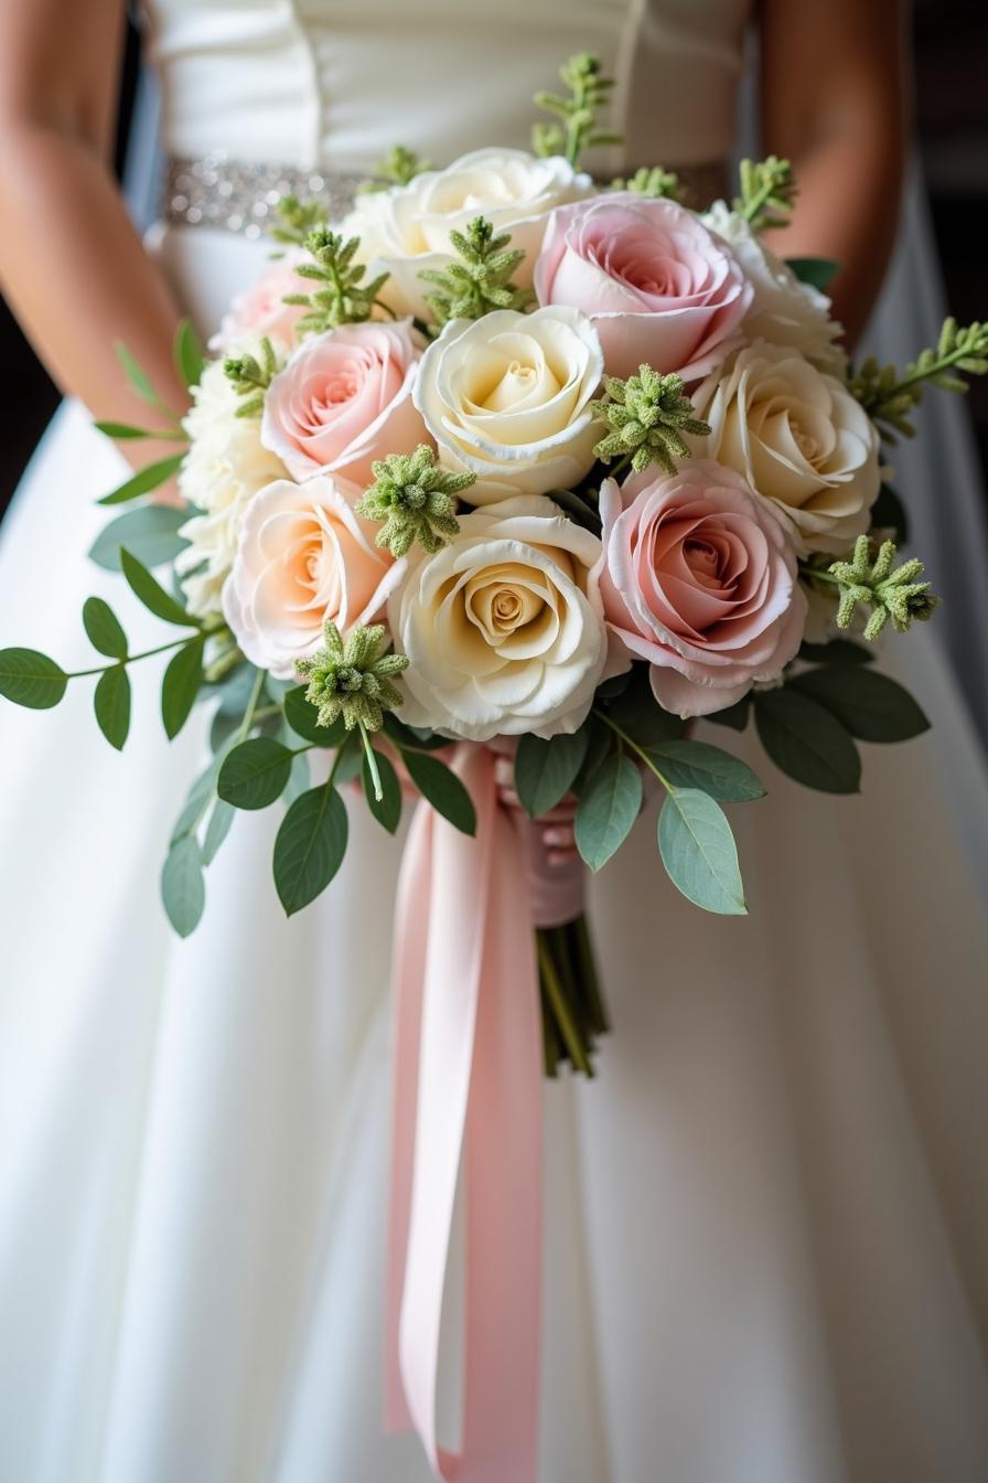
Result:
M126 0L0 0L0 280L62 390L148 426L124 341L173 408L178 310L144 252L110 159ZM138 443L139 463L175 445Z

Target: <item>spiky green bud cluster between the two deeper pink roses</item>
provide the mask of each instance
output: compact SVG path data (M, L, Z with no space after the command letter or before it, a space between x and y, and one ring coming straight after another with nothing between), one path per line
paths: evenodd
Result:
M675 473L675 460L690 457L683 433L701 437L710 433L710 426L693 415L681 377L659 375L649 365L638 366L638 374L627 381L604 377L604 396L591 402L591 408L610 429L594 448L595 455L603 463L618 458L635 473L652 463Z

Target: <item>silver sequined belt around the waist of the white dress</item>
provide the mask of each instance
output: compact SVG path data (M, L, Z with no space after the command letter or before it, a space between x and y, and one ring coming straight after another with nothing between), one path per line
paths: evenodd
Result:
M708 206L724 193L726 169L720 160L670 169L678 176L687 206ZM281 196L317 196L335 221L351 209L357 187L366 179L366 174L357 172L231 160L218 150L198 160L169 160L160 215L170 225L213 227L259 237Z

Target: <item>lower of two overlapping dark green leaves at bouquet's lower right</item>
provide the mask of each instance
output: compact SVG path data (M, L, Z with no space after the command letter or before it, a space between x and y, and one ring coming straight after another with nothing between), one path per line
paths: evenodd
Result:
M822 793L856 793L861 756L850 733L824 706L791 685L754 700L755 725L775 765Z

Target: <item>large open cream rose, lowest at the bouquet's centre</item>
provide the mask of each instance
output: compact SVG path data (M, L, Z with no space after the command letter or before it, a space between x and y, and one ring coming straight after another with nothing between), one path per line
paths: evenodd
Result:
M575 731L601 678L607 641L595 535L551 500L520 495L461 518L435 556L409 558L388 604L401 719L486 742Z

